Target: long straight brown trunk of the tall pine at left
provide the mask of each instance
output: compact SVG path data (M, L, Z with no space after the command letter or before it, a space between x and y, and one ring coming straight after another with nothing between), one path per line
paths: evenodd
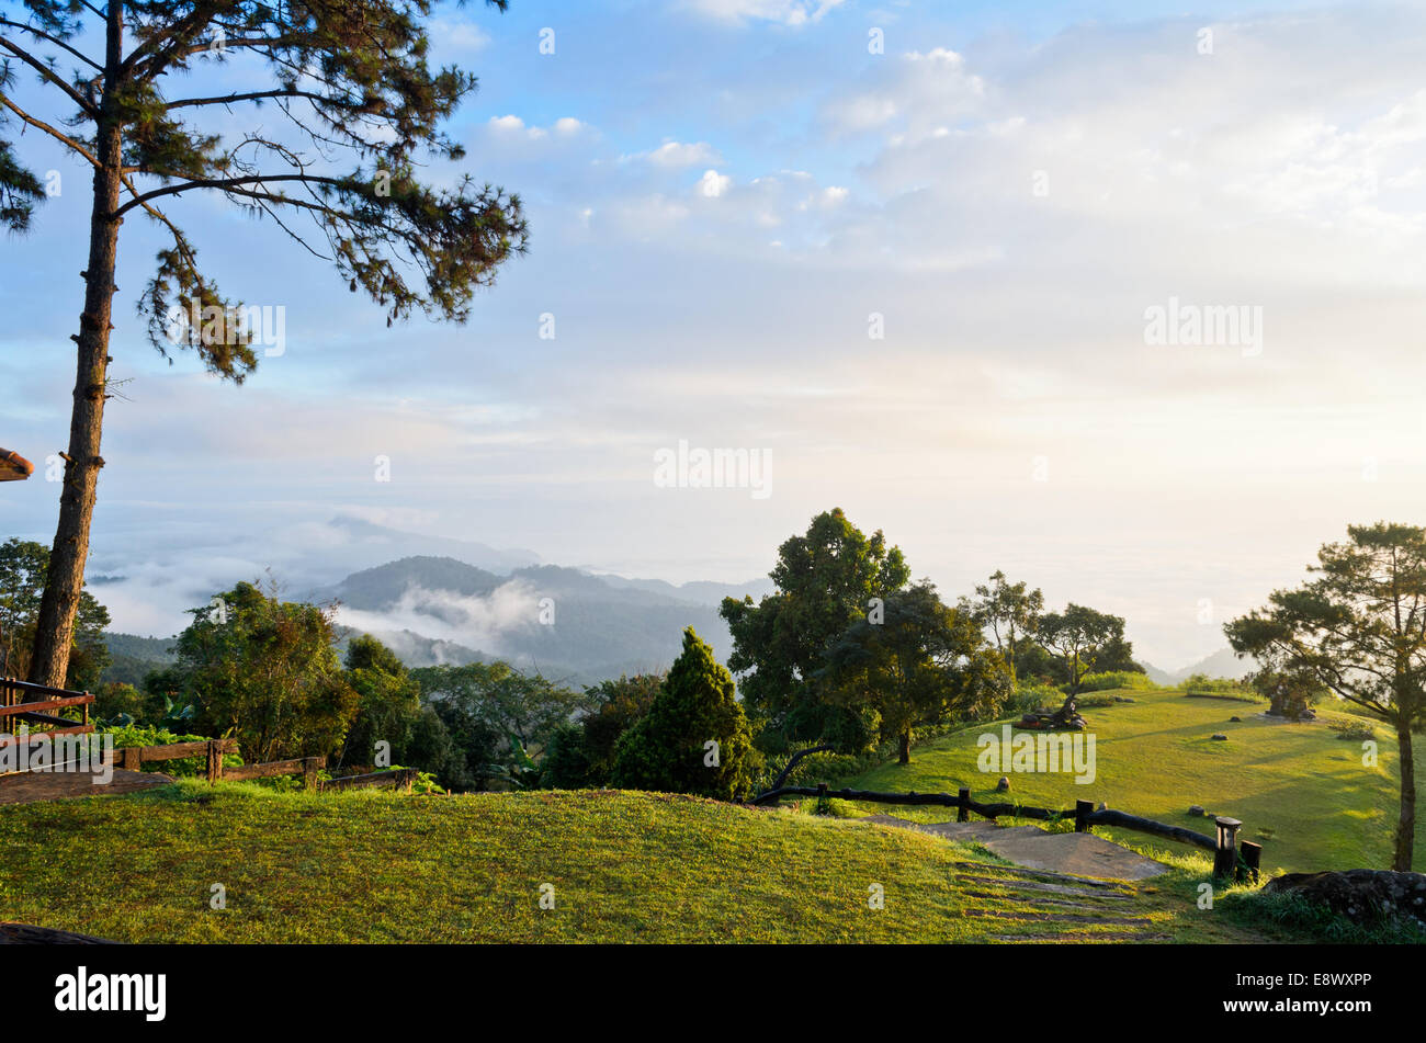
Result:
M90 254L84 271L84 311L74 378L74 410L70 416L70 449L64 462L64 486L60 490L60 520L50 550L50 570L40 600L30 680L36 684L64 687L70 647L74 640L74 614L84 587L84 563L88 559L90 523L94 519L94 493L100 456L100 432L104 422L104 382L108 368L108 332L114 303L114 266L118 248L120 171L123 138L114 97L114 70L118 68L123 43L123 4L110 0L106 41L104 101L96 134L94 204L90 211Z

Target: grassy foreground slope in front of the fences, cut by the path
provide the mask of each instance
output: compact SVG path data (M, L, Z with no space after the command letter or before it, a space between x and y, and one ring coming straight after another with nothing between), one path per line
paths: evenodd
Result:
M130 942L974 942L1037 930L967 915L1032 909L968 893L955 862L1001 876L974 849L652 794L210 794L181 782L0 808L0 919ZM1199 912L1206 868L1154 882L1141 906L1154 930L1286 940ZM215 882L224 910L208 908ZM538 908L542 882L556 888L555 910ZM867 908L873 882L883 910ZM1099 930L1114 928L1084 928Z

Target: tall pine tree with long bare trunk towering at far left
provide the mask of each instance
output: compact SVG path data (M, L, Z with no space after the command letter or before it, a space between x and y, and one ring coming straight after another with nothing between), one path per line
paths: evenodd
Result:
M488 0L503 10L505 0ZM240 303L198 261L173 204L217 197L325 256L386 312L463 322L473 292L525 249L520 202L468 175L442 125L475 76L428 63L431 0L24 0L0 6L0 224L30 227L44 187L16 131L93 172L84 302L60 517L30 675L58 685L73 647L94 514L120 228L165 245L140 296L164 355L194 349L220 378L257 365ZM13 16L13 17L11 17ZM34 77L37 105L14 91ZM24 104L21 104L21 101ZM39 154L37 154L39 155ZM305 227L311 221L311 227ZM194 316L174 332L175 315Z

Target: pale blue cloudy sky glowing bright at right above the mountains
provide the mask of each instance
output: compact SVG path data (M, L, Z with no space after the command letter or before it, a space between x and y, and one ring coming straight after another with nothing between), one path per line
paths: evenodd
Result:
M1349 523L1426 523L1420 6L513 0L432 40L481 90L429 174L518 192L529 254L466 325L388 329L185 197L224 289L284 309L235 388L145 342L164 241L131 217L90 557L117 630L339 578L337 519L742 581L840 506L948 600L1001 569L1176 668ZM0 242L0 445L43 470L88 185L21 155L60 191ZM670 477L680 445L757 480ZM0 531L48 543L57 503L0 487Z

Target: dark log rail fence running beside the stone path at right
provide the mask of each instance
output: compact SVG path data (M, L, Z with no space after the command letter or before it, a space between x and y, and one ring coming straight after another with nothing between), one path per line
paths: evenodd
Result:
M1205 834L1194 832L1192 829L1185 829L1184 826L1169 825L1168 822L1155 822L1151 818L1139 818L1138 815L1129 815L1112 808L1095 811L1091 801L1075 801L1072 811L1054 811L1051 808L1027 808L1018 804L981 804L971 799L971 791L965 787L961 787L955 796L951 796L950 794L918 794L914 791L908 794L880 794L868 789L829 789L826 782L819 784L816 788L779 787L776 789L769 789L764 794L759 794L752 802L754 805L771 804L781 796L816 796L821 801L836 796L841 801L955 808L957 822L968 822L971 812L991 821L997 818L1031 818L1041 822L1074 819L1074 829L1077 834L1089 832L1091 826L1097 825L1117 829L1134 829L1141 834L1158 836L1164 841L1188 844L1195 848L1214 852L1214 876L1236 876L1241 859L1248 875L1251 875L1252 879L1258 879L1258 869L1262 863L1262 845L1251 844L1248 841L1238 844L1238 831L1242 828L1242 822L1236 818L1228 818L1224 815L1219 815L1215 819L1215 825L1218 826L1216 836L1208 836Z

